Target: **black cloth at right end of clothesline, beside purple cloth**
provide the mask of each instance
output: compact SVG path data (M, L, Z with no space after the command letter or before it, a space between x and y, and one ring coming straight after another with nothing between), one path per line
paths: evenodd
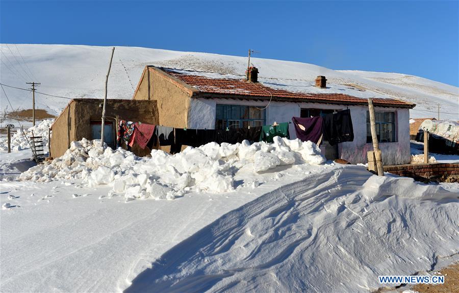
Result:
M327 114L322 120L323 137L330 145L354 140L350 110Z

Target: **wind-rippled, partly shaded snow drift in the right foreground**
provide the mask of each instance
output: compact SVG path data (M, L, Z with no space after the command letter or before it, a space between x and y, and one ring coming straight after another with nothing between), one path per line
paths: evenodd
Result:
M441 185L324 169L223 215L123 291L374 292L379 275L457 259L458 208Z

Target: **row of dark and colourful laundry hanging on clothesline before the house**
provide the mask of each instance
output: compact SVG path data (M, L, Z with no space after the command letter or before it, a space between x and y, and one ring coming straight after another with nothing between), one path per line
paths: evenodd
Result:
M318 143L322 136L331 145L353 141L350 110L327 114L324 118L292 117L292 121L296 135L301 141L310 140ZM198 147L210 142L236 144L248 140L272 143L275 136L290 139L289 123L292 122L274 122L272 125L247 128L190 129L120 120L117 125L117 143L121 146L124 142L128 149L133 147L134 143L142 149L152 149L158 145L170 146L171 153L180 152L182 145Z

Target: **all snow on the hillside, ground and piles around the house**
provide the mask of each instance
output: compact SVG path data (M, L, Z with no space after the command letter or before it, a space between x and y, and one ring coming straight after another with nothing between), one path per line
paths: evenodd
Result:
M17 48L40 76L39 91L102 97L109 47ZM131 98L145 65L232 78L246 66L243 57L136 47L116 47L113 61L109 98ZM456 87L416 76L252 63L270 87L314 92L314 78L325 75L327 92L415 102L412 118L436 113L438 102L444 112L458 108ZM23 87L4 65L0 81ZM30 108L24 91L5 90L14 109ZM36 95L38 108L56 115L67 102ZM50 123L34 134L47 139ZM412 275L459 258L459 184L325 162L311 142L210 143L140 158L84 139L35 166L21 134L13 141L12 153L0 143L2 292L368 292L381 286L378 275ZM422 154L419 147L412 143L413 155Z

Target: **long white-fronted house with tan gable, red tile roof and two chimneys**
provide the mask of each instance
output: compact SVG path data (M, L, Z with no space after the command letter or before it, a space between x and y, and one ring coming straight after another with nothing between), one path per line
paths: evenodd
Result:
M366 163L372 150L368 97L375 93L312 81L259 78L250 67L246 78L218 73L146 66L133 99L154 100L158 124L176 128L225 129L290 122L292 117L326 115L350 109L354 140L324 144L328 159ZM386 165L410 163L409 109L415 104L379 94L373 98L379 148ZM290 136L296 138L290 124ZM168 150L168 147L162 147Z

